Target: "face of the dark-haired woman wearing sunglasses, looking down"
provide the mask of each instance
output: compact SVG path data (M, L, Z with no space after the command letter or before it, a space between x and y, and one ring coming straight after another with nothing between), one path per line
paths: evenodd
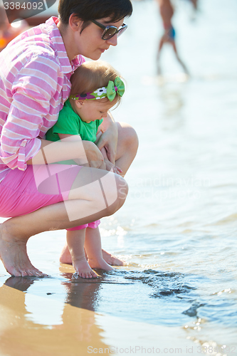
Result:
M123 19L117 22L110 22L109 18L105 18L99 19L98 22L104 26L116 26L118 28L122 26ZM102 32L102 28L93 22L82 33L80 33L79 28L75 32L75 49L78 52L75 56L81 54L96 61L110 46L117 46L117 34L108 40L102 40Z

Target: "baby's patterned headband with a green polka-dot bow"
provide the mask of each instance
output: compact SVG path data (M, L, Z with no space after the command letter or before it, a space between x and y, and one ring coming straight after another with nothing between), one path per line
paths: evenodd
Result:
M107 87L99 88L92 93L70 95L73 100L97 100L108 98L110 101L115 99L116 93L122 96L125 93L125 85L120 77L115 78L115 82L109 81Z

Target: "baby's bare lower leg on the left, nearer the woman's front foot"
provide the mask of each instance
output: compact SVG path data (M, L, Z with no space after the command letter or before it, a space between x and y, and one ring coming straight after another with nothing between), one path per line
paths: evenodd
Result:
M97 278L90 268L84 253L85 229L67 231L67 243L73 260L75 273L81 278Z

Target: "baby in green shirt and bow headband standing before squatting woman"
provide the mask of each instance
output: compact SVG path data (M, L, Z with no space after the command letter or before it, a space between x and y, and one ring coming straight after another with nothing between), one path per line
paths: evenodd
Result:
M107 116L108 110L120 103L125 85L119 73L102 61L83 63L75 70L70 81L70 97L59 112L58 121L46 133L46 140L56 142L80 135L82 140L96 144L102 135L103 117ZM98 168L122 174L122 169L115 165L119 164L119 160L112 164L105 147L102 147L101 152L103 159ZM65 164L75 164L75 161ZM64 262L67 258L65 255L70 253L69 258L72 259L75 272L82 278L96 278L98 275L92 268L105 271L113 269L102 258L99 224L100 220L66 229L67 244L60 261ZM95 229L93 234L90 233L91 229ZM84 246L88 261L85 258Z

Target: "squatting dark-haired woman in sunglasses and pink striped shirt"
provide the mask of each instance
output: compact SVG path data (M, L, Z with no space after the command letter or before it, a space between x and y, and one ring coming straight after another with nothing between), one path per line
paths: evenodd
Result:
M130 0L60 0L58 13L59 19L31 28L0 53L0 216L13 216L0 226L0 256L12 276L44 276L26 253L31 236L87 224L120 209L127 183L97 168L100 149L105 147L112 163L120 159L124 174L137 152L135 131L116 125L110 115L98 147L78 139L44 140L82 56L98 60L117 45L132 5ZM90 167L51 165L75 158Z

